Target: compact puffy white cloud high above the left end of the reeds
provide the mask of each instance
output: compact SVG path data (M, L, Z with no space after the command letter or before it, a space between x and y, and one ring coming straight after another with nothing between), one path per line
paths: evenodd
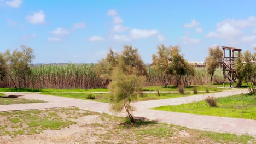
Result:
M42 24L45 22L46 15L43 10L39 10L38 13L33 13L32 15L27 15L26 19L32 24Z

